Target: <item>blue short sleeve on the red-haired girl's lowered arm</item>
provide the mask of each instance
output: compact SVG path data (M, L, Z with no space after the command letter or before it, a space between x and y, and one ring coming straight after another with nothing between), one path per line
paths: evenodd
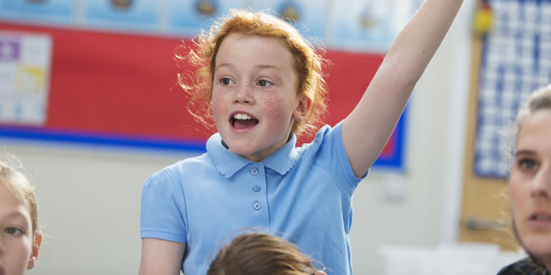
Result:
M142 188L141 238L187 243L185 210L182 188L176 188L167 170L155 173Z

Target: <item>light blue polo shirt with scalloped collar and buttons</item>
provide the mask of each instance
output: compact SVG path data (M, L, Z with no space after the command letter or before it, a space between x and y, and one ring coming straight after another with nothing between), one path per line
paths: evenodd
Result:
M207 153L183 159L145 181L141 237L187 243L182 270L207 274L220 246L244 228L266 228L327 267L352 274L349 233L354 176L341 124L315 140L296 137L261 162L231 153L218 133Z

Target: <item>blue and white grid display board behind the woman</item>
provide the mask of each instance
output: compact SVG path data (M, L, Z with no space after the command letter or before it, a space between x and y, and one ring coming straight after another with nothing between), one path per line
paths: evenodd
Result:
M475 173L508 177L510 133L519 107L551 83L551 0L492 0L478 93Z

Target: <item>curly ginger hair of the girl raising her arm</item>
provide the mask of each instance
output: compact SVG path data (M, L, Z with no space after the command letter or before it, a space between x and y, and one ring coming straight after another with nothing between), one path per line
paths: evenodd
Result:
M302 121L295 121L291 131L296 135L302 131L311 132L320 123L321 115L326 110L327 88L323 78L323 64L326 60L314 50L298 30L283 19L278 19L267 12L250 10L229 10L225 17L214 21L209 32L201 31L198 41L193 41L196 49L180 45L176 49L176 59L188 61L198 67L194 73L193 84L186 84L187 77L178 74L178 84L191 98L187 109L198 122L209 126L206 118L212 119L211 95L216 54L220 44L228 34L258 34L278 37L287 43L289 51L295 58L295 71L298 74L298 94L311 101L311 108ZM189 50L187 54L178 54L179 50Z

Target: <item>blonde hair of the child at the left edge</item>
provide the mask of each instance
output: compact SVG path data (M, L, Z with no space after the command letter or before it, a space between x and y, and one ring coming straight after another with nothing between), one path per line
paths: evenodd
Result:
M14 196L24 199L28 203L34 238L35 233L38 232L39 210L36 189L30 184L19 159L6 152L0 152L0 184L5 184Z

